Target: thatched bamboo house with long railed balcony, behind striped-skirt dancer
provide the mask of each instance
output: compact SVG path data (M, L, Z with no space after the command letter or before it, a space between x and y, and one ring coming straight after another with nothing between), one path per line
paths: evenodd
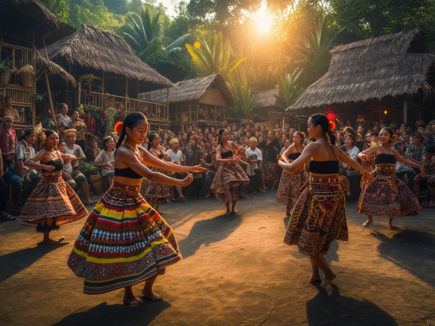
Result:
M40 50L44 57L45 53ZM92 105L97 110L111 106L117 112L140 111L147 116L150 130L169 126L167 111L170 80L142 62L121 37L89 25L47 47L50 60L68 69L77 80L93 74L94 81L83 81L59 88L56 102L70 108ZM139 94L164 89L166 100L155 103L139 100Z

